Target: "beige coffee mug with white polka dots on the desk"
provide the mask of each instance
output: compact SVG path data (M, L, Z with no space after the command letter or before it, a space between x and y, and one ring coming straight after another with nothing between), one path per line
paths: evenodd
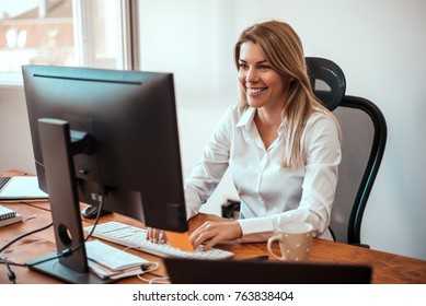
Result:
M279 226L276 234L267 242L267 250L275 259L283 261L308 260L311 252L313 226L306 222L290 222ZM274 242L279 243L281 255L278 256L272 249Z

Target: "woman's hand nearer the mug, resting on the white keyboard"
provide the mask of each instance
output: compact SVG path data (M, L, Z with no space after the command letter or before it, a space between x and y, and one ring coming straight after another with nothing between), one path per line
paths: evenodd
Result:
M234 240L241 237L242 229L237 221L207 221L189 236L194 248L205 244L202 250L208 250L217 243Z

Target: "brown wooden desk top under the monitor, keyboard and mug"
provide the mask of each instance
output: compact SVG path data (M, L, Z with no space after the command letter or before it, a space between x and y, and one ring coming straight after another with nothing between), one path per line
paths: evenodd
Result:
M50 223L51 216L48 202L35 203L2 203L9 208L20 212L24 222L13 225L0 227L0 248L14 237L27 233L30 231L43 227ZM195 228L198 224L208 219L208 215L200 214L189 222L189 226ZM117 214L105 215L101 222L116 220L119 222L129 223L141 226L141 223ZM90 225L91 222L83 220L83 226ZM118 246L119 247L119 246ZM255 244L224 244L220 248L230 250L235 254L235 259L244 259L260 255L266 255L266 243ZM36 257L53 252L56 250L53 227L43 232L32 234L16 242L1 255L10 261L23 263ZM135 255L143 256L147 260L160 263L160 268L154 271L154 275L150 274L147 278L158 275L166 275L162 259L149 254L142 254L137 250L130 250ZM338 244L322 239L314 239L311 262L333 262L333 263L366 263L372 267L372 283L426 283L426 261L388 254L383 251L366 249L345 244ZM59 283L58 280L47 275L37 273L27 268L12 267L16 274L18 283ZM146 275L145 275L146 276ZM138 278L128 278L119 283L141 283ZM0 264L0 283L9 283L7 269L4 264Z

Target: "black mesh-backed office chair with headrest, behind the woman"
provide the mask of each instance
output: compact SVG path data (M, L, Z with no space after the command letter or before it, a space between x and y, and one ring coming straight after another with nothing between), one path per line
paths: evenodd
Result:
M345 75L336 63L308 57L307 66L316 97L333 110L343 134L330 229L336 242L369 247L360 242L360 228L384 153L385 119L372 102L345 95Z

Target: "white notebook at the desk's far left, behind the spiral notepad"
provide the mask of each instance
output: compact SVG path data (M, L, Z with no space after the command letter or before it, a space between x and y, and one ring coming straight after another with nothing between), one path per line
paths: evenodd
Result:
M0 177L0 201L46 201L36 176Z

